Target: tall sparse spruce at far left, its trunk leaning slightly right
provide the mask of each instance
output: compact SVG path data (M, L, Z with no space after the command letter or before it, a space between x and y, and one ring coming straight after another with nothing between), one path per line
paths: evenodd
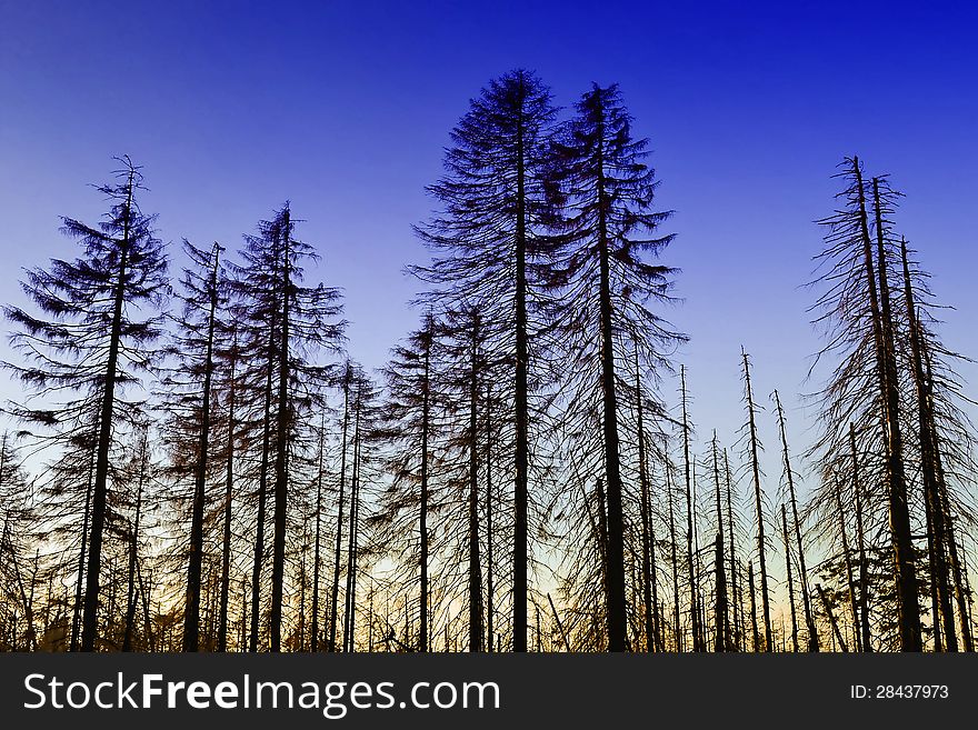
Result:
M167 293L167 258L153 230L156 218L139 207L142 173L128 157L118 161L117 181L96 188L110 202L102 222L62 218L61 230L78 241L79 256L27 272L22 288L40 313L4 308L18 329L12 343L29 363L10 367L29 390L49 396L44 403L14 407L14 414L66 443L91 423L92 406L98 408L82 651L93 651L98 639L110 457L132 418L136 391L161 333L159 317L148 312Z

